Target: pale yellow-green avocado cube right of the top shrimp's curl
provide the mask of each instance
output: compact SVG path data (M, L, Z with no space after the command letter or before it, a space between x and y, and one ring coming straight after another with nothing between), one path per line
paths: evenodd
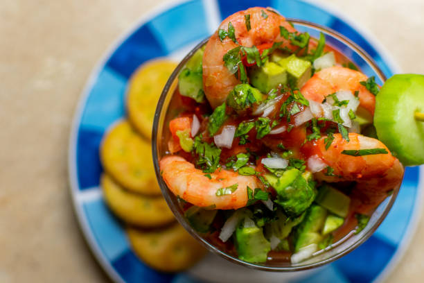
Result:
M288 83L291 87L300 89L310 78L312 70L310 61L297 58L292 54L288 58L279 60L278 64L287 71Z

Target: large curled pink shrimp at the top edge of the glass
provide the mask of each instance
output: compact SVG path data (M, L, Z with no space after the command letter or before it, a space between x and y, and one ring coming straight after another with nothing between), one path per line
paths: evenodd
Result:
M264 15L265 13L265 15ZM250 15L251 29L247 31L245 15ZM241 46L258 46L265 43L283 42L282 46L293 49L288 40L280 35L280 26L290 33L296 30L281 15L265 8L254 7L224 19L219 29L228 30L229 22L233 25L236 40ZM224 66L224 55L239 46L229 37L220 40L216 31L206 44L203 55L203 89L212 108L221 105L240 80Z

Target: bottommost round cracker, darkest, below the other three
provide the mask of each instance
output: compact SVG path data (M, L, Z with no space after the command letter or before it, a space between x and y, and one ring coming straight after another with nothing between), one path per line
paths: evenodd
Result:
M127 228L127 234L136 255L159 271L183 271L206 254L206 249L179 223L159 231Z

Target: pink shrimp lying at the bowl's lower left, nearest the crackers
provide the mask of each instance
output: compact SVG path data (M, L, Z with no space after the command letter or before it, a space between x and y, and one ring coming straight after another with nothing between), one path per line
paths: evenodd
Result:
M162 178L168 188L180 198L198 207L214 209L238 209L247 205L247 187L261 188L254 176L239 175L236 172L218 169L209 174L209 179L200 169L177 155L168 155L161 159ZM230 188L231 189L225 189ZM219 195L220 189L225 189ZM231 192L232 191L232 192ZM217 196L218 195L218 196Z

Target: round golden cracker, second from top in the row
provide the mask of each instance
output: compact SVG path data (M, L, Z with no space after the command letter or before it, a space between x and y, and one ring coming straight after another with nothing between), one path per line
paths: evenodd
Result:
M128 121L117 123L107 132L100 148L105 171L125 189L149 196L159 196L153 169L152 148L130 126Z

